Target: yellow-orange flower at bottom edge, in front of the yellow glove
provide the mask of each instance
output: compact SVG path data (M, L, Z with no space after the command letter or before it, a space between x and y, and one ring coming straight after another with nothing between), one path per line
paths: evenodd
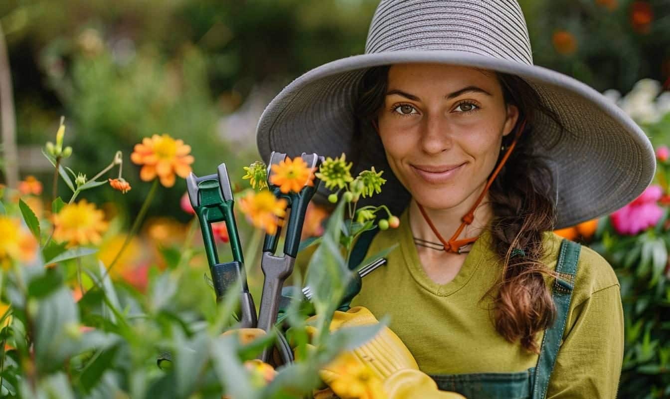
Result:
M387 398L381 380L350 352L339 355L327 367L337 378L328 382L333 392L343 398L381 399Z

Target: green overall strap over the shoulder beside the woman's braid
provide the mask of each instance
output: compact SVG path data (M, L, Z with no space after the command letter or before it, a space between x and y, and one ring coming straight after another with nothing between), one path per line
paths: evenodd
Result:
M553 283L551 295L556 306L556 319L553 325L545 331L542 339L540 355L535 366L535 384L532 399L543 399L547 394L549 376L556 362L556 355L563 339L563 330L567 321L567 311L570 308L572 288L574 287L577 264L582 247L578 243L563 239L556 262L556 272L560 278Z

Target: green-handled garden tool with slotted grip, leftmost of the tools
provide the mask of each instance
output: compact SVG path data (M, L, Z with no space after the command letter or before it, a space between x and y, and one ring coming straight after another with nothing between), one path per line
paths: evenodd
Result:
M220 164L216 174L198 177L191 173L186 178L186 186L191 205L196 211L196 215L198 215L198 221L200 221L216 300L217 302L222 300L230 286L235 286L237 282L241 282L240 327L256 327L256 308L247 286L242 245L237 232L235 215L232 212L235 201L230 188L226 164ZM218 260L211 223L220 221L225 221L228 229L233 258L231 262L220 263Z

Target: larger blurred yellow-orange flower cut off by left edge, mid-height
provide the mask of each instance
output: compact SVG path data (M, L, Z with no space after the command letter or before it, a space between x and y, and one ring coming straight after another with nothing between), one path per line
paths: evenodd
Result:
M7 270L11 261L31 262L35 259L38 242L21 227L19 219L0 216L0 265Z

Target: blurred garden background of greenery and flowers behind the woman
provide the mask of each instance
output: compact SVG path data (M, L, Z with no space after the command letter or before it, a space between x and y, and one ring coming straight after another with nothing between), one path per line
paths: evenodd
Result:
M657 148L670 144L669 0L519 2L535 64L590 84L631 115ZM17 189L12 201L21 197L38 219L56 210L56 196L68 202L72 192L64 180L54 195L54 167L42 154L45 143L56 139L61 116L64 146L72 147L63 164L75 174L91 178L121 151L131 190L121 194L105 186L82 191L78 201L97 204L109 223L100 231L100 260L113 262L127 241L115 276L145 292L151 276L184 262L182 245L199 233L184 203L186 182L177 177L174 186L155 188L138 234L129 236L152 190L140 178L138 162L131 162L135 145L152 135L182 139L191 148L195 174L214 173L226 162L234 188L247 184L243 166L259 158L255 127L265 105L303 72L362 54L377 3L2 0L0 182ZM661 162L667 158L659 153ZM118 174L115 168L101 178ZM667 174L657 184L660 194L651 201L663 215L651 228L623 233L604 217L594 231L566 233L598 249L622 281L628 323L624 398L670 396ZM325 216L312 209L305 236L320 234ZM243 245L257 245L261 234L240 221ZM221 237L226 241L224 231ZM206 261L194 253L196 263L205 265L197 274L202 283ZM247 258L250 285L258 293L259 256Z

